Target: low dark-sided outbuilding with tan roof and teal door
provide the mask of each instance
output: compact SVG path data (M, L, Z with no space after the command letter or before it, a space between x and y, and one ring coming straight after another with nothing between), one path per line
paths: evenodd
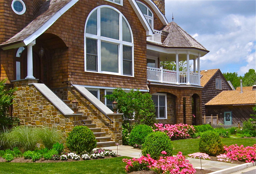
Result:
M256 85L243 87L242 91L222 91L212 100L205 104L208 113L219 115L219 123L224 125L237 124L255 114L252 107L256 105Z

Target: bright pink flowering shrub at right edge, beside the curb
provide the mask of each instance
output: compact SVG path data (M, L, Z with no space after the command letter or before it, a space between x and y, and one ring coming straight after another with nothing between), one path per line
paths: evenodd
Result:
M226 151L224 154L232 160L245 162L256 161L256 144L247 147L244 147L243 145L239 147L237 144L228 147L224 146L224 150Z

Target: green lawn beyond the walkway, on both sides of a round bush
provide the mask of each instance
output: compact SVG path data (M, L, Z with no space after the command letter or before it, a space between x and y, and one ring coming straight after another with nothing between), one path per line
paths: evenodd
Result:
M198 151L198 143L199 138L193 139L185 139L185 140L175 140L172 141L174 146L173 154L177 154L178 152L182 152L183 155L196 153ZM256 144L255 138L222 138L222 143L225 145L237 144L244 146L252 146Z

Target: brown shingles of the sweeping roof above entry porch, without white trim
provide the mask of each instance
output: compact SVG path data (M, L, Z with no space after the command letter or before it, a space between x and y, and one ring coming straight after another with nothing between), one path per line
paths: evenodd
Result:
M15 34L12 38L0 44L0 46L23 41L28 36L33 34L37 29L39 29L45 22L47 22L55 13L57 13L62 7L64 7L70 1L71 0L48 0L44 2L41 5L37 14L35 15L35 19L31 21L20 32Z

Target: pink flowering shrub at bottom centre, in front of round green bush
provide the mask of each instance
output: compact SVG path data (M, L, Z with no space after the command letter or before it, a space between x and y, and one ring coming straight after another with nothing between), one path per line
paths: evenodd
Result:
M164 153L164 152L163 152ZM195 169L192 164L186 160L181 152L177 156L160 156L159 160L154 160L149 154L141 156L139 159L123 159L126 162L126 171L153 170L155 173L167 174L193 174Z

